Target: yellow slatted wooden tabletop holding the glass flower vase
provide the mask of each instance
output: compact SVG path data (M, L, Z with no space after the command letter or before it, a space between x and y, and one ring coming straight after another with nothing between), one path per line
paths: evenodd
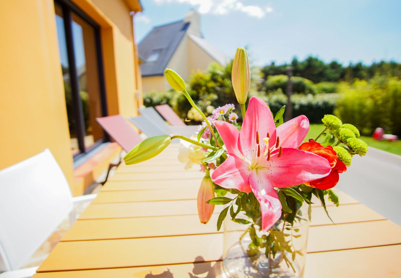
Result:
M120 165L33 277L223 277L221 206L199 223L203 173L183 170L177 152L172 144L149 161ZM400 277L401 227L337 193L341 205L328 202L336 225L314 205L305 277Z

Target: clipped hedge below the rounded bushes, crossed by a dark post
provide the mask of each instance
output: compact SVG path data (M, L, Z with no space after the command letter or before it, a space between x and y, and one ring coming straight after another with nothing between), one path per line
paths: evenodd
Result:
M282 90L265 94L257 92L253 94L262 98L269 104L271 112L274 114L283 106L287 104L287 96L283 94ZM332 114L338 99L338 94L294 94L291 96L293 107L292 117L305 115L308 117L310 123L322 123L322 118L325 114Z

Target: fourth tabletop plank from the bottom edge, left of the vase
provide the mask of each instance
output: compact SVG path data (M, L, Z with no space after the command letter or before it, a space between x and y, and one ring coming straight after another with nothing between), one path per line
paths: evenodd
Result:
M216 206L219 212L223 206ZM105 203L91 204L81 214L79 219L102 219L122 217L152 217L163 215L197 214L196 200L133 202L133 203ZM184 223L178 223L178 225Z

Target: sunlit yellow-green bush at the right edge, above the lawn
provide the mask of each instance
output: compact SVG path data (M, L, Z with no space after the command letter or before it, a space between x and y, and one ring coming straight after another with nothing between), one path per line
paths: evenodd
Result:
M355 80L352 85L342 82L339 91L335 114L342 121L365 135L371 135L377 127L401 135L401 80L382 76L369 82Z

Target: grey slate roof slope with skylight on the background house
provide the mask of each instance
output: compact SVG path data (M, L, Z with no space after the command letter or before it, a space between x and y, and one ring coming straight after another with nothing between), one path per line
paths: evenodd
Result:
M138 44L138 53L145 59L145 62L140 65L143 77L163 75L168 61L184 37L189 24L180 20L156 26L142 39ZM155 52L160 52L158 59L154 62L146 62L149 55Z

